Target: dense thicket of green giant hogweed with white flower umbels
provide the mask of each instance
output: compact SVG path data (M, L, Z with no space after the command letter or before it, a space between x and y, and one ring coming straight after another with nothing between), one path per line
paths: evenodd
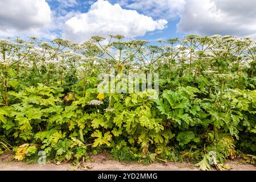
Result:
M0 40L0 153L23 160L43 150L77 164L107 150L118 160L201 161L207 170L214 151L217 169L238 155L255 163L254 40L102 40ZM117 76L159 73L158 99L148 99L150 90L98 93L98 75L110 68Z

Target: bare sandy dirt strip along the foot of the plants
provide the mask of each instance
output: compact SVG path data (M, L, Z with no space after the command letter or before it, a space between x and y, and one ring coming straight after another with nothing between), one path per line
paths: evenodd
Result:
M92 156L87 162L76 168L72 164L26 164L14 162L12 155L0 155L0 171L68 171L68 170L95 170L95 171L198 171L199 169L189 163L154 163L148 166L135 163L123 163L108 158L104 154ZM240 160L228 160L226 164L232 166L234 171L256 171L256 167L243 164ZM213 169L214 170L214 169Z

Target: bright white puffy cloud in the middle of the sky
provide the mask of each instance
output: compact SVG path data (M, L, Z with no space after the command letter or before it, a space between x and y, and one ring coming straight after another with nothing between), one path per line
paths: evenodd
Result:
M76 42L83 42L91 36L122 34L127 38L142 36L146 32L163 30L167 21L154 20L150 16L135 10L122 9L118 4L98 0L87 13L74 16L65 22L63 37Z

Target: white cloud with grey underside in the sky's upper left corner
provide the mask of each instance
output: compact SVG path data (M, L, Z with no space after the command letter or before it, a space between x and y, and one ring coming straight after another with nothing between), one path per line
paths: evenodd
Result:
M43 35L52 20L45 0L1 0L0 7L0 36Z

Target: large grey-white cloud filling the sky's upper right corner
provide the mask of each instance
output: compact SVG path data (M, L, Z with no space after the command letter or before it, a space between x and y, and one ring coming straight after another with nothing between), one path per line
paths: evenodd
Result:
M187 0L177 30L256 37L255 0Z

